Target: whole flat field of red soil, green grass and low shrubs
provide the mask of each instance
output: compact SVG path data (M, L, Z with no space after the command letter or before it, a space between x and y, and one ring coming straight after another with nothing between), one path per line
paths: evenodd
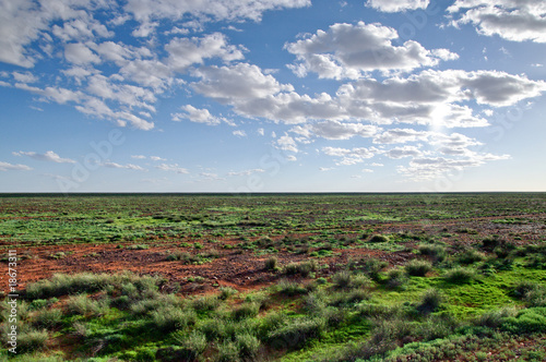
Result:
M2 195L0 246L15 360L546 360L543 193Z

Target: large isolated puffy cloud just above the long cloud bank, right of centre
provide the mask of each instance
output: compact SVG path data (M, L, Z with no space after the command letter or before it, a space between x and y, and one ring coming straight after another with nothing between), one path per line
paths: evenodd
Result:
M395 46L397 38L394 28L379 24L334 24L285 48L297 57L298 63L290 65L297 75L313 72L336 80L358 79L375 70L412 71L458 58L447 49L427 50L414 40Z

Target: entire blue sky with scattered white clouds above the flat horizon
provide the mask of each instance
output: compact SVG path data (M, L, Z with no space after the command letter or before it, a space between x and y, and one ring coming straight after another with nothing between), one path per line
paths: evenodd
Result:
M0 192L546 191L543 0L0 0Z

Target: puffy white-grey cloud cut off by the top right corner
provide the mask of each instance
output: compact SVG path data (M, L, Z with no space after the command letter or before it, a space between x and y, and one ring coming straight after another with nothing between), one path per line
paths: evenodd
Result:
M546 43L546 4L543 0L456 0L448 11L459 19L452 25L473 24L486 36L507 40Z

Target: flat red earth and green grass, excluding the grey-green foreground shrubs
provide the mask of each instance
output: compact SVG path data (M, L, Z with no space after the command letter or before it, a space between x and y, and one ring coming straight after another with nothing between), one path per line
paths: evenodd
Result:
M542 307L536 301L529 302L527 290L523 293L525 295L517 295L514 290L524 279L534 278L536 286L529 288L536 287L538 289L533 290L541 293L546 280L545 245L546 194L543 193L0 196L0 248L4 249L4 254L8 250L16 250L21 258L17 281L23 294L28 286L49 280L55 274L118 275L131 272L133 278L155 278L158 293L177 295L182 304L199 298L216 298L223 291L233 290L239 295L232 297L232 302L227 303L233 307L247 303L251 295L268 291L265 293L271 294L269 302L260 304L259 315L251 313L251 321L262 321L272 312L278 313L278 309L289 312L288 316L296 313L296 316L307 317L305 303L308 303L309 293L319 291L323 294L324 311L341 311L345 315L340 322L348 330L345 337L332 336L335 328L317 327L320 333L304 334L304 342L297 346L275 348L271 342L273 331L260 336L259 330L250 328L258 336L260 346L251 353L245 352L238 337L211 337L204 327L198 328L200 323L213 317L213 313L219 313L217 311L224 307L223 304L203 315L198 310L193 327L189 324L185 328L168 330L168 334L187 333L183 340L199 330L206 336L207 347L199 353L185 354L189 361L321 360L331 353L331 349L345 351L337 360L366 360L376 354L383 359L392 354L387 350L400 350L407 343L424 343L428 339L408 331L406 340L403 334L393 337L394 345L385 351L378 349L376 354L368 355L361 352L363 345L360 352L349 353L347 343L370 343L378 328L377 321L353 321L353 313L363 309L364 301L403 306L405 300L406 304L410 302L408 305L418 310L415 303L430 288L441 291L444 306L430 315L426 313L426 317L449 314L458 321L456 328L463 328L461 323L498 311L507 303L518 310ZM3 261L7 262L7 257ZM379 265L376 274L363 267L369 264L367 261ZM417 262L428 263L423 275L408 272L411 267L407 265ZM298 269L301 265L310 267L301 272ZM472 280L456 281L455 287L447 285L450 282L448 274L458 267L471 270ZM401 270L405 274L397 280L395 274ZM368 278L361 288L348 288L352 293L354 289L360 290L366 298L356 298L354 303L335 301L335 298L341 298L335 297L340 290L345 290L343 287L335 289L343 273L348 273L348 278ZM0 285L5 286L2 290L7 290L8 278L5 273L0 274ZM286 282L309 290L296 293L296 297L273 291ZM488 293L494 293L496 300ZM45 311L57 309L67 313L63 303L71 293L54 294L49 297L57 297L58 302L54 301ZM32 297L25 298L33 303ZM119 313L130 311L130 306L120 307L115 303L109 307ZM33 319L35 314L31 312L27 322L37 326L39 324ZM170 347L176 350L176 346L183 349L180 346L185 342L177 343L176 336L167 341L151 336L149 339L153 346L146 345L147 359L138 357L145 354L141 351L143 340L121 343L117 348L99 348L96 352L93 352L93 346L78 349L78 343L71 339L74 338L74 323L92 324L97 317L83 314L80 321L68 313L55 327L47 329L49 340L39 348L27 348L28 353L60 360L94 357L105 361L109 358L166 361L162 349ZM133 321L134 316L128 314L119 318L122 324L128 323L127 318ZM412 319L411 313L401 317L404 318L412 323L428 323L423 317ZM356 326L366 327L359 330ZM459 336L456 338L461 339L474 336L456 328L453 326L449 334L439 337L453 339ZM539 333L533 338L526 331L513 335L513 330L506 326L499 328L498 333L512 335L491 335L488 337L491 343L495 338L506 338L505 345L508 346L521 338L518 346L523 357L532 350L542 351L545 346L541 328L530 331ZM52 336L57 337L51 339ZM218 347L214 347L219 342L235 343L240 353L223 359ZM453 339L450 343L456 345L456 341ZM490 354L482 354L482 347L461 350L460 359L431 357L429 360L472 361L475 358L501 361L503 359L499 355L509 350L495 348ZM407 355L403 358L407 360ZM537 355L538 360L546 359L546 354ZM182 357L179 360L183 360ZM401 361L405 360L401 357Z

